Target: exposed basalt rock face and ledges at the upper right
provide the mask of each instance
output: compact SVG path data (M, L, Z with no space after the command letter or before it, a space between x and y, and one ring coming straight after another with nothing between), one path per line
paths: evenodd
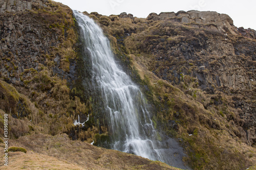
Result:
M152 19L150 16L148 20ZM173 58L170 56L175 58L182 56L180 59L186 61L186 69L180 69L184 64L163 64L165 68L156 68L157 72L154 70L154 74L173 84L180 84L181 77L193 77L197 79L198 88L207 94L231 96L230 105L238 109L238 114L243 119L242 127L246 133L247 143L254 145L256 107L253 102L255 98L253 81L255 81L256 66L256 32L251 29L236 28L228 15L217 12L180 11L176 14L160 13L159 16L155 16L159 20L185 23L184 26L189 26L194 35L190 40L184 38L188 42L181 40L180 43L172 43L173 37L169 37L167 41L171 42L170 45L148 49L157 53L157 61L160 61L158 63L172 62ZM205 34L200 35L198 29L217 35L208 38ZM178 36L177 34L176 38ZM177 54L177 51L180 54ZM220 103L216 102L214 105L218 106Z

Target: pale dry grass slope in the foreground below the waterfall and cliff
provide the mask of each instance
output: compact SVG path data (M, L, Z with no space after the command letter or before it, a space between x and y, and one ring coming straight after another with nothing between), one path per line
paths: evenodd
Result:
M10 143L28 152L9 153L8 169L60 169L61 166L64 169L178 169L159 161L73 141L67 134L23 136Z

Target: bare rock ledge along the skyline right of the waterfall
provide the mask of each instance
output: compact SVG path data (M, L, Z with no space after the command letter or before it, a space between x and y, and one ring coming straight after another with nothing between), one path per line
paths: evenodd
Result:
M133 14L127 14L126 12L122 12L118 15L120 18L131 18L134 19ZM237 28L233 25L232 18L227 14L220 14L215 11L178 11L175 12L161 12L150 13L147 20L151 21L174 21L185 23L195 28L204 28L210 31L218 31L227 34L241 34L247 38L255 38L256 31L253 29L244 29L243 27Z

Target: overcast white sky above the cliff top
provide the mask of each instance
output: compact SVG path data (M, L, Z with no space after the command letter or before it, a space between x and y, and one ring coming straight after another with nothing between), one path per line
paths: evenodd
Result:
M80 12L98 12L102 15L126 12L136 17L147 17L155 12L178 12L180 10L216 11L228 14L237 27L256 30L255 0L54 0Z

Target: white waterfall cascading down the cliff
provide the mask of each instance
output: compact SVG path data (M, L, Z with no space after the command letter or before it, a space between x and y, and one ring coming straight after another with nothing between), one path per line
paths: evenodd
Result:
M173 164L169 162L173 153L166 149L169 145L163 149L157 140L143 95L116 63L109 40L93 19L73 12L86 46L84 51L92 60L93 78L101 88L105 112L110 117L112 149Z

